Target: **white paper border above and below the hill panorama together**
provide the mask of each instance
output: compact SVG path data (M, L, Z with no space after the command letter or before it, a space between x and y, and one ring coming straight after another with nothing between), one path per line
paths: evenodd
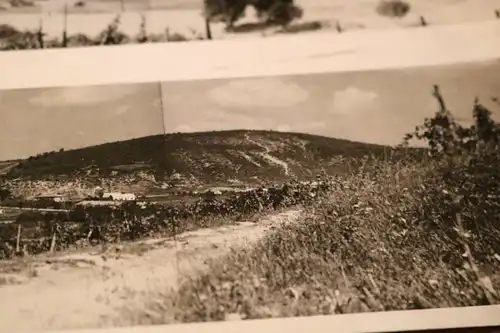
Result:
M190 81L497 61L500 21L337 35L7 51L0 89ZM80 333L396 332L500 325L500 305L239 322L139 326ZM62 332L73 332L72 330Z

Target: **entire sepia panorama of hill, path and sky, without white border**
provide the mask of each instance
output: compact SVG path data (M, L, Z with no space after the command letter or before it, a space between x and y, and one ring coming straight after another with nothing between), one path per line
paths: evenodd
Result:
M499 304L499 72L0 92L0 331Z

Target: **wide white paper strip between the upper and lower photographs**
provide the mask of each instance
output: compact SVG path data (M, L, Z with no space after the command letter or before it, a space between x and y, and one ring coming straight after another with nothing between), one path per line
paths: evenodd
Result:
M0 89L381 70L500 59L500 20L432 28L0 52ZM276 41L279 38L279 43Z

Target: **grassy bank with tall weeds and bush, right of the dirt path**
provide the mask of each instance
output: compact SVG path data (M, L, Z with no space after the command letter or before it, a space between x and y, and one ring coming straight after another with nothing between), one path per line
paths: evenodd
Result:
M255 247L210 263L135 324L498 304L500 126L476 101L470 127L441 109L406 141L419 163L365 161Z

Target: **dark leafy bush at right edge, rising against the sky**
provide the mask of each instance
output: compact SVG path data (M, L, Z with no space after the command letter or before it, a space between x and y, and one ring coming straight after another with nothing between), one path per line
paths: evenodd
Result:
M427 210L425 220L450 239L463 242L462 251L470 247L469 256L495 262L494 255L500 254L500 125L476 99L473 123L462 126L447 109L437 86L434 96L440 110L405 138L406 143L412 138L427 141L438 168L427 199L429 207L439 203L439 214L436 209Z

